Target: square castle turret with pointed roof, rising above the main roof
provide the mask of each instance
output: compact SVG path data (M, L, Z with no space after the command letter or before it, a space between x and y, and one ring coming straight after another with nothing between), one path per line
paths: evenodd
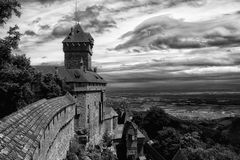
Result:
M84 32L80 24L76 24L62 43L65 68L92 70L91 57L94 39L90 33Z

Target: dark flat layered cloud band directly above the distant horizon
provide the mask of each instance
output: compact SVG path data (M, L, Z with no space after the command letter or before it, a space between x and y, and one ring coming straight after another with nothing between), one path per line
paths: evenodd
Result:
M199 70L199 68L198 68ZM114 90L144 90L144 91L239 91L239 67L201 67L202 74L192 69L178 71L138 71L130 73L102 73L108 79L110 88ZM218 70L218 71L217 71ZM220 72L219 72L220 71Z

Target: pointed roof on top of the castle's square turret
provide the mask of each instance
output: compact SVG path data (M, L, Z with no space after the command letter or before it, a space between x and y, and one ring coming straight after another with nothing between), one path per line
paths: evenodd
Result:
M93 43L93 37L90 33L84 32L80 24L76 24L69 35L63 40L65 42L90 42Z

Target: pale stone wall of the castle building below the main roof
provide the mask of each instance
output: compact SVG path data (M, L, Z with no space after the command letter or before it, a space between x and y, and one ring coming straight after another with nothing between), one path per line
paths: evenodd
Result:
M75 97L77 98L77 113L79 119L76 124L79 129L87 129L89 134L89 140L93 143L98 143L102 139L104 133L103 123L99 121L99 107L103 105L105 107L105 92L102 86L96 87L96 91L91 92L77 92Z

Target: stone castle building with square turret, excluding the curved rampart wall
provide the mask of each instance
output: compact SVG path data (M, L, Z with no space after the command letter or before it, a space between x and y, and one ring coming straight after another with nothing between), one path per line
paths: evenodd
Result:
M63 40L64 66L38 66L43 73L55 73L64 80L75 97L75 131L87 131L89 140L98 143L105 131L113 131L117 113L106 107L107 82L92 69L94 39L80 24L71 28Z

